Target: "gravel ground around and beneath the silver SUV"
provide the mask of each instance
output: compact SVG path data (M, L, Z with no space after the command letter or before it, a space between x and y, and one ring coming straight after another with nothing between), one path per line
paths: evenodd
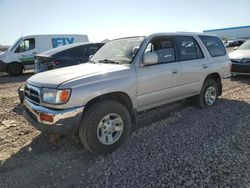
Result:
M249 77L225 80L212 108L141 114L121 149L95 157L22 118L16 89L30 75L0 76L0 187L250 187Z

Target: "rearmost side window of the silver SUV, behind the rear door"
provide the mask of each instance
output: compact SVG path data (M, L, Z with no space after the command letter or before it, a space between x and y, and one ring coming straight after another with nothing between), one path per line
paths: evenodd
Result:
M218 37L199 36L212 57L226 55L226 49Z

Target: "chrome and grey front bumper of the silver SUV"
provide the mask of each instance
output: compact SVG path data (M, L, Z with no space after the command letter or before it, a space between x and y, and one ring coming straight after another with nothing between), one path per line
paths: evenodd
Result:
M63 110L51 109L34 104L26 98L23 100L23 108L23 116L36 129L59 135L71 134L78 130L84 109L83 106ZM53 116L53 122L41 120L41 113Z

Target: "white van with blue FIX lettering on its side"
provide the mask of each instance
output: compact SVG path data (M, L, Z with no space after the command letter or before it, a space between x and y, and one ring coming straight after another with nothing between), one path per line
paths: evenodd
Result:
M89 42L87 35L29 35L19 38L7 51L0 53L0 72L17 76L34 69L34 55L77 42Z

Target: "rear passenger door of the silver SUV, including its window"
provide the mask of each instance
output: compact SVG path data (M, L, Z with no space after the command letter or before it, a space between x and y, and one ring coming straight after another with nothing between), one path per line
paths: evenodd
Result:
M184 96L200 92L209 64L201 47L192 36L176 36L178 61L181 66L182 93Z

